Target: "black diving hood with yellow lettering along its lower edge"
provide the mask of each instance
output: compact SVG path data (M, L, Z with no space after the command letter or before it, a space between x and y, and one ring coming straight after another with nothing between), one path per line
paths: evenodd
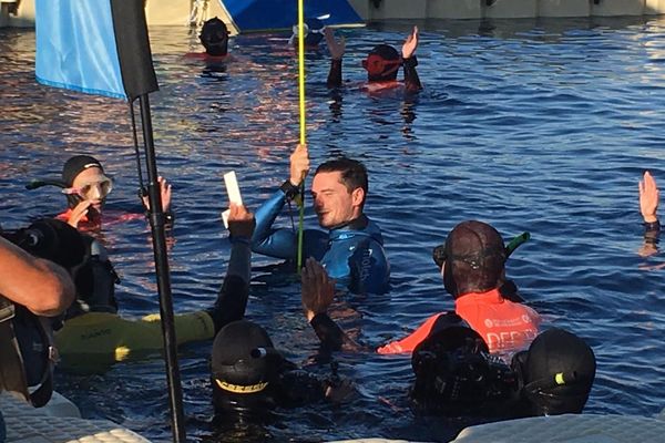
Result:
M268 333L260 326L239 320L222 328L213 342L211 370L214 389L237 394L263 391L275 371L272 359L257 350L276 352Z

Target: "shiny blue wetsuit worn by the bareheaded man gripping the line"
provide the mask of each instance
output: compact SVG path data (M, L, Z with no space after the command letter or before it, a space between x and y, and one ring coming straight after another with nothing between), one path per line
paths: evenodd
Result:
M291 229L273 229L286 196L277 190L255 214L256 229L252 250L270 257L295 259L297 234ZM389 289L390 266L383 251L378 225L361 215L356 220L330 229L305 229L303 257L314 257L324 265L338 286L354 293L383 293Z

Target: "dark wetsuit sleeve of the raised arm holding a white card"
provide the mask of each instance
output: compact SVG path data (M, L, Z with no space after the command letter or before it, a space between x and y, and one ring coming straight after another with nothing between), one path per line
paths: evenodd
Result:
M224 284L213 309L208 311L218 331L232 321L242 320L249 298L252 250L246 238L232 238L231 258Z

